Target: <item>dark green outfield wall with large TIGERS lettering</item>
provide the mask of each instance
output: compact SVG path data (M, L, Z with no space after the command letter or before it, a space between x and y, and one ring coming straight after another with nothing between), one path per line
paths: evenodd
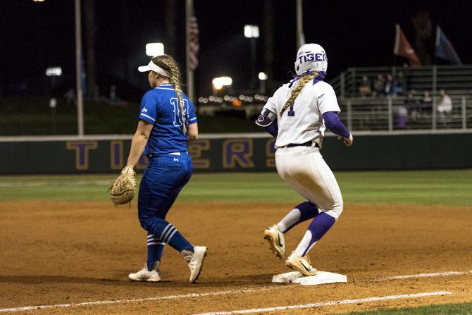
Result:
M123 168L131 136L1 137L0 174L116 173ZM273 171L274 139L263 133L202 135L189 152L194 170ZM354 135L345 147L323 141L323 154L337 171L472 168L472 132L404 132ZM137 169L146 168L142 156Z

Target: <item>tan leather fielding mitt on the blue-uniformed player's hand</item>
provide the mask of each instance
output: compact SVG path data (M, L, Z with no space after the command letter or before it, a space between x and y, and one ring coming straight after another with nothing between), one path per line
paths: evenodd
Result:
M131 200L135 197L136 192L136 173L132 168L125 167L121 171L121 174L108 188L110 192L111 202L115 206L118 204L131 205Z

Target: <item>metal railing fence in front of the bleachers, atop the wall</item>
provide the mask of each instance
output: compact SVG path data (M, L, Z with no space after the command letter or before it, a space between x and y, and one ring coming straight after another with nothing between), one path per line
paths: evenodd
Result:
M471 97L451 97L452 111L437 111L433 102L409 106L405 97L340 99L340 118L349 130L442 130L472 128Z

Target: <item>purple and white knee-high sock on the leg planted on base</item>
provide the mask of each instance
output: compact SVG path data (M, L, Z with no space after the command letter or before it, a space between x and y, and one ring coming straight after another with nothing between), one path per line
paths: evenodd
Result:
M315 242L321 240L321 237L335 224L336 220L333 216L321 212L311 221L302 241L298 245L295 252L299 257L304 257L307 252L315 245Z

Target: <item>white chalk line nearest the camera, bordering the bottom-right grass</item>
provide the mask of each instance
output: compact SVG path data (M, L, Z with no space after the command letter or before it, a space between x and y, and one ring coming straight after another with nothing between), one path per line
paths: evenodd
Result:
M364 299L342 299L340 301L288 305L285 307L266 307L263 309L239 309L239 310L234 310L234 311L214 311L210 313L199 313L199 314L193 314L193 315L228 315L228 314L265 313L267 311L287 311L289 309L308 309L311 307L325 307L325 306L330 306L330 305L385 301L388 299L412 299L415 297L432 297L435 295L450 295L450 294L452 294L452 292L435 291L435 292L423 292L423 293L416 293L416 294L409 294L409 295L387 295L385 297L366 297Z

